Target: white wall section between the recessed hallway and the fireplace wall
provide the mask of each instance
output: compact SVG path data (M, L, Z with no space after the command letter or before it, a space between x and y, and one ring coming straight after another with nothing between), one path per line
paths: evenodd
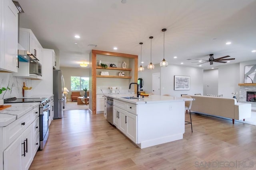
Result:
M232 98L232 92L239 92L240 64L223 65L219 66L218 69L218 93L223 94L223 97Z

